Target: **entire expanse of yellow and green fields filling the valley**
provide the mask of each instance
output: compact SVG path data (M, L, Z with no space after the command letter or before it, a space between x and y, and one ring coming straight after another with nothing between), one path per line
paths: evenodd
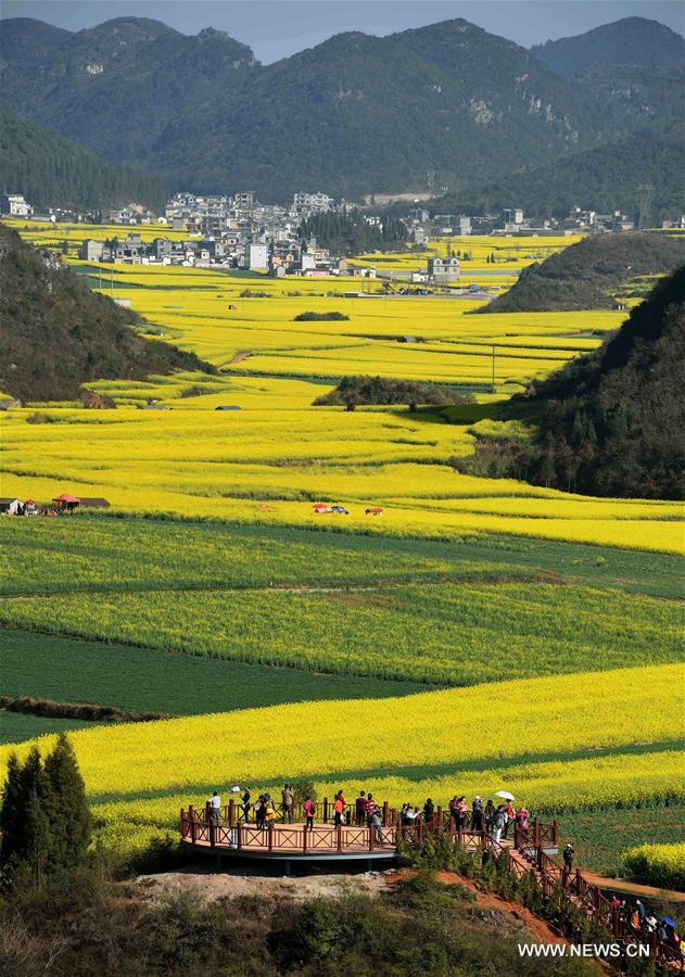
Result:
M534 259L525 249L503 267ZM396 802L507 787L569 819L683 799L682 506L449 464L519 423L509 393L621 314L469 316L471 299L344 297L353 279L84 270L103 291L113 272L115 295L220 370L94 384L116 410L2 417L2 495L112 508L0 520L0 693L175 716L81 729L0 713L5 741L75 731L109 843L140 850L215 786L295 777ZM294 321L306 310L348 319ZM313 406L350 371L477 402ZM149 398L166 409L139 410Z

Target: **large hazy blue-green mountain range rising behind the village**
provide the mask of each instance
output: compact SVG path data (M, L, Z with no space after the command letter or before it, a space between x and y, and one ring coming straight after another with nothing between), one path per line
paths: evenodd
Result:
M3 22L7 101L174 189L418 190L429 173L495 179L597 144L605 129L572 85L462 20L343 34L270 65L220 31L188 37L134 17L48 31L31 55L45 26Z

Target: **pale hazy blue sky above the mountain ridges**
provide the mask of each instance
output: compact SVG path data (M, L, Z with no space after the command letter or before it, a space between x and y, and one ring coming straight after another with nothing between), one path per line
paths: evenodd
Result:
M682 0L0 0L2 17L36 17L79 30L117 16L153 17L183 34L217 27L264 62L310 48L341 30L391 34L465 17L524 47L581 34L620 17L652 17L685 33Z

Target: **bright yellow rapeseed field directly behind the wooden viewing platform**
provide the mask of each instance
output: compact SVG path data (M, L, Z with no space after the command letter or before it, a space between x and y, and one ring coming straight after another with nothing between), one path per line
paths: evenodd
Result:
M214 787L289 778L316 781L319 796L360 786L394 804L503 787L533 810L650 803L683 792L670 749L683 734L682 677L681 665L667 664L303 702L96 728L72 743L114 838L131 821L173 828L177 809L203 803ZM475 729L486 735L470 735ZM53 738L36 744L48 749ZM12 749L0 748L1 764ZM158 791L166 796L144 799Z

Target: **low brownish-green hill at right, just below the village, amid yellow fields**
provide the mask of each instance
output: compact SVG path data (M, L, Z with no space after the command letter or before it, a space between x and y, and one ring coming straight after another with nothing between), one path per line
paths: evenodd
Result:
M685 238L645 231L593 234L529 265L504 295L480 313L611 308L612 297L640 275L672 271L685 263Z

